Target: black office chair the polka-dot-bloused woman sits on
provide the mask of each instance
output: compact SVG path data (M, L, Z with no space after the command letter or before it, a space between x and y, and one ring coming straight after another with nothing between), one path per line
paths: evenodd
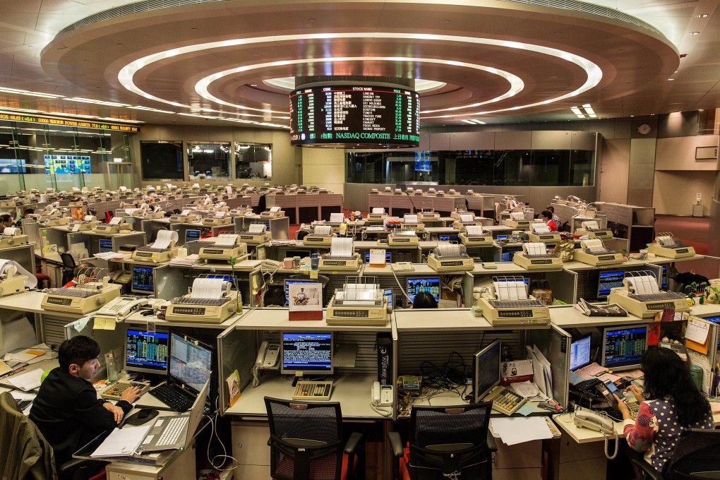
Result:
M662 472L655 470L642 457L631 457L646 479L702 480L720 479L720 430L688 429L678 440L678 446Z

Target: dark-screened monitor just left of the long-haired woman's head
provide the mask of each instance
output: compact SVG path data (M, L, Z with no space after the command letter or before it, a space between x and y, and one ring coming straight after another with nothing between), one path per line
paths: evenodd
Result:
M606 327L603 330L603 368L639 368L640 357L646 348L647 325Z

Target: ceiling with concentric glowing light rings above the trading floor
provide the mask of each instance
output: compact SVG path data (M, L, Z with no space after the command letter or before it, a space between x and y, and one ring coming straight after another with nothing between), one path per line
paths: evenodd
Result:
M418 89L423 126L577 119L571 107L588 104L600 118L719 104L716 74L683 79L696 61L718 65L706 49L720 43L716 1L29 3L117 8L68 12L34 58L43 78L15 81L0 50L0 110L286 128L293 78L318 76L431 82ZM675 22L657 22L658 9ZM693 28L702 38L688 44ZM688 48L705 58L685 60Z

